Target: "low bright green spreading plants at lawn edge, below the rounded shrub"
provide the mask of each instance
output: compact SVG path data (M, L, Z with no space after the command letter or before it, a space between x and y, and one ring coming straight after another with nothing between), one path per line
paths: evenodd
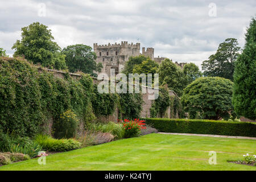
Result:
M81 143L75 139L54 139L47 135L37 135L35 142L48 151L69 151L80 148Z

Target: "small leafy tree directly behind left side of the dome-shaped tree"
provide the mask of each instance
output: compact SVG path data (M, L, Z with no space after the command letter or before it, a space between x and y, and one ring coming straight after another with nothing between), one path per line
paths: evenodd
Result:
M196 80L196 78L203 76L203 73L199 70L199 67L197 67L197 65L194 63L185 64L182 71L187 79L187 85L191 84L192 81Z

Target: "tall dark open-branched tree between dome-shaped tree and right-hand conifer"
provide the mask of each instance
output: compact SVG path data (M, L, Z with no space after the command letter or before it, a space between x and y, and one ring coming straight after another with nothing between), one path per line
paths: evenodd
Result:
M203 61L205 76L218 76L233 81L234 63L239 55L237 39L229 38L218 46L217 52Z

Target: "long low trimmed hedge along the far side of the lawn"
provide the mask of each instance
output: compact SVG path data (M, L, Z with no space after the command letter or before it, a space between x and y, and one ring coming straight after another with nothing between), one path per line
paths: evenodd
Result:
M169 133L194 133L256 137L256 123L206 119L144 118L148 125Z

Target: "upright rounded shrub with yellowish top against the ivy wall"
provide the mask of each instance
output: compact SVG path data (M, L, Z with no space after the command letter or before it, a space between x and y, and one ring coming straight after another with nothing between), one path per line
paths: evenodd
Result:
M53 123L54 135L56 138L73 138L76 136L78 125L76 114L72 110L67 110Z

